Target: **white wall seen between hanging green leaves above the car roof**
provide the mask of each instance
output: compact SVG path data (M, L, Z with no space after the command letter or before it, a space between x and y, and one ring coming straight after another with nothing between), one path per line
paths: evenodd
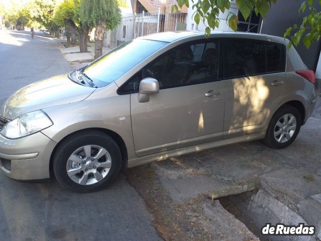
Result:
M186 30L205 31L206 25L204 25L203 21L200 21L200 24L197 26L197 29L196 29L196 23L194 21L194 15L193 15L195 10L192 9L192 6L193 6L192 1L191 0L189 0L189 1L190 1L190 8L188 9L188 13L187 13L187 21L186 21L187 28L186 28ZM234 13L235 15L237 15L237 7L236 7L235 3L231 3L231 7L230 7L229 11ZM219 26L219 28L216 28L215 30L232 31L226 22L227 15L228 15L228 12L225 12L224 14L222 12L220 12L220 14L219 14L220 26ZM207 24L207 22L205 22L205 23ZM192 25L194 25L194 28L192 27Z

